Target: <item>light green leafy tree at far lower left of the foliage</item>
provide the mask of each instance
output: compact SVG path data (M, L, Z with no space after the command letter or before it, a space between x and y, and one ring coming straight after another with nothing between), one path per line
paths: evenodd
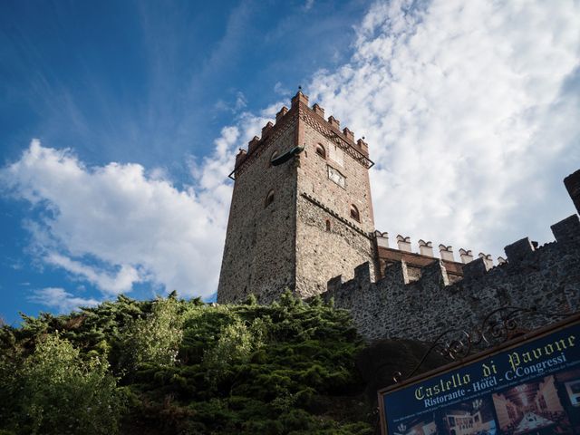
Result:
M83 361L58 333L46 335L18 372L14 428L32 434L118 432L121 395L109 363Z

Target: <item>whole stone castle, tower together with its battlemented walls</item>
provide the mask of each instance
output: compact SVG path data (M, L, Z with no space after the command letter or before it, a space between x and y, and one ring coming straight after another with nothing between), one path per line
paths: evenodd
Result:
M296 93L237 154L218 303L253 294L269 304L289 288L303 299L332 298L367 339L423 341L503 306L580 309L577 215L551 227L555 242L508 245L496 266L444 245L435 256L424 240L415 253L410 237L392 240L374 227L372 165L364 140ZM580 210L580 170L565 188Z

